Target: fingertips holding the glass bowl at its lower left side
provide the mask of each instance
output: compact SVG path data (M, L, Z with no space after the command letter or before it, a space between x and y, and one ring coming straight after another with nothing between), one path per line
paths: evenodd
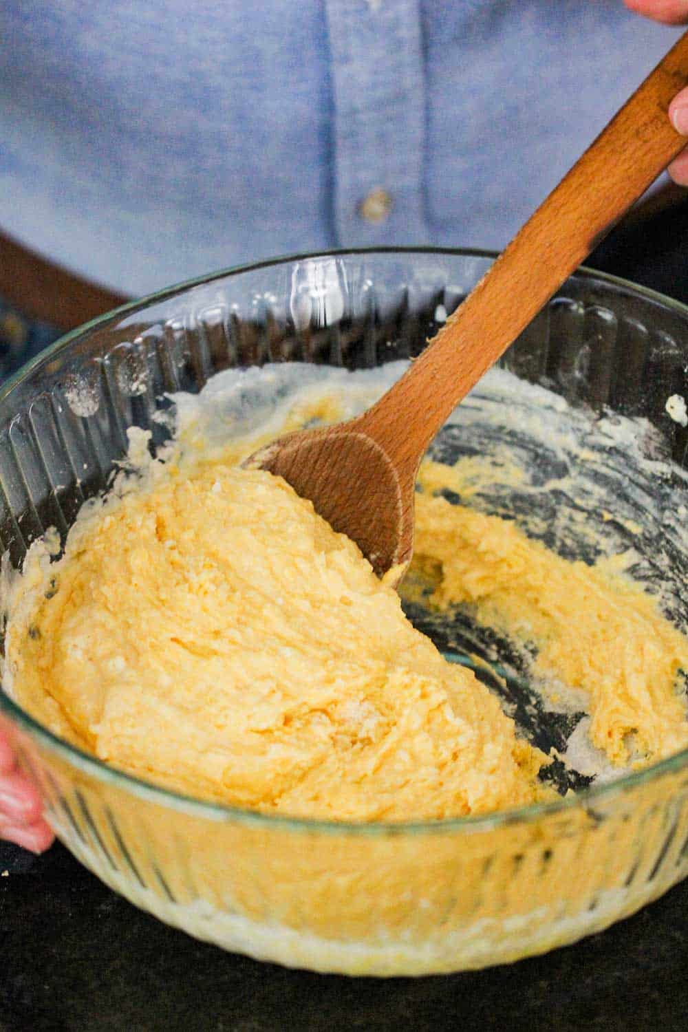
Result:
M53 842L53 830L43 820L40 796L20 771L9 735L0 725L0 838L32 852Z

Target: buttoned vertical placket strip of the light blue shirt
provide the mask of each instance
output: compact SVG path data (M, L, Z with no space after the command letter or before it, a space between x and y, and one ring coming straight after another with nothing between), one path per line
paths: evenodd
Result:
M326 7L338 244L426 243L419 3L326 0Z

